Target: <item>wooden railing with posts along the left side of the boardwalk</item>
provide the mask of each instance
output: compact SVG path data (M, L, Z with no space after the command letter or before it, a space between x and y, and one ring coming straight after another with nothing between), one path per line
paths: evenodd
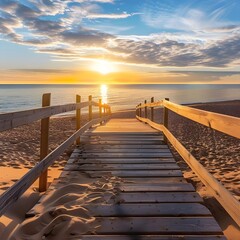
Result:
M47 189L47 169L64 151L75 141L80 143L80 135L93 125L106 121L111 114L111 108L107 104L92 101L89 96L88 101L81 102L81 97L76 96L76 103L50 106L51 94L47 93L42 98L42 108L26 111L11 112L0 114L0 132L13 129L15 127L29 124L41 120L41 141L40 141L40 162L29 170L19 181L12 185L0 196L0 216L13 204L39 177L39 191ZM99 111L99 118L93 119L92 107L95 106ZM88 107L89 121L81 126L81 109ZM52 115L76 111L76 132L66 141L49 153L49 117Z

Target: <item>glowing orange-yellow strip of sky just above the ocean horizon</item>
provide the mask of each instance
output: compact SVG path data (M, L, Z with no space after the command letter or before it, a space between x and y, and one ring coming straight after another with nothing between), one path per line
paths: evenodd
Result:
M118 71L110 67L109 73L104 69L99 72L84 69L56 72L8 70L0 71L0 84L206 84L207 78L206 76L204 80L202 74L191 75L186 72L137 72L120 71L117 68L115 70ZM208 81L208 84L238 84L239 77L240 74L216 76L216 79Z

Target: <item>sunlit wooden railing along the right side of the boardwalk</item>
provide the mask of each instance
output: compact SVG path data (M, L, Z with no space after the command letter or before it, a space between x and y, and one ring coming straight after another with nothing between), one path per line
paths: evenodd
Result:
M164 107L163 124L154 122L155 107ZM150 119L148 118L148 108L151 108ZM172 144L203 184L240 226L240 203L168 130L168 110L236 138L240 138L240 118L178 105L170 102L169 99L154 102L152 98L151 103L147 103L145 100L144 104L136 106L136 118L163 132L164 140Z

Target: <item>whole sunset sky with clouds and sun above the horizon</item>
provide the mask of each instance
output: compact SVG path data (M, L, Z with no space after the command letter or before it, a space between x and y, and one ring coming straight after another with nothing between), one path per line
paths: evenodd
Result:
M0 83L240 84L239 0L0 0Z

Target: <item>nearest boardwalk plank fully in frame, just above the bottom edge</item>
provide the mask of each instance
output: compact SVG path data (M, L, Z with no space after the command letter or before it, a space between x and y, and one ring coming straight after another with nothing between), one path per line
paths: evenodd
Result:
M96 218L96 234L221 234L213 217Z

